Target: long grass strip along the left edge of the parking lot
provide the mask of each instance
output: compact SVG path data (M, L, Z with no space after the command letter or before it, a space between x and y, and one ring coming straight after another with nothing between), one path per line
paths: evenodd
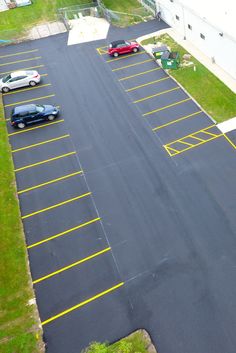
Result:
M0 352L41 352L1 94L0 136Z

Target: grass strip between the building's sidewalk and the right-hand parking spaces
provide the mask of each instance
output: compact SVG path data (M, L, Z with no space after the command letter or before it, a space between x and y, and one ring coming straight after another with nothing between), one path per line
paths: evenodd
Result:
M187 53L167 34L161 35L158 39L144 40L142 45L154 43L155 40L167 44L172 51L178 51L180 57ZM170 70L170 74L217 122L235 117L236 94L198 60L191 57L191 61L194 63L196 71L193 70L193 67L182 67L178 70Z

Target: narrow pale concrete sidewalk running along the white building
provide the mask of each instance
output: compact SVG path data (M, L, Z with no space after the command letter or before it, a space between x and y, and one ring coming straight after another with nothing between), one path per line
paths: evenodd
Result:
M154 36L160 36L161 34L169 34L177 43L179 43L183 48L186 49L192 56L194 56L198 61L200 61L206 68L211 71L216 77L218 77L226 86L228 86L231 91L236 93L236 80L225 72L220 66L213 63L210 58L208 58L204 53L202 53L197 47L193 45L189 40L184 40L176 31L172 28L167 28L154 33L150 33L146 36L139 38L139 40L144 40Z

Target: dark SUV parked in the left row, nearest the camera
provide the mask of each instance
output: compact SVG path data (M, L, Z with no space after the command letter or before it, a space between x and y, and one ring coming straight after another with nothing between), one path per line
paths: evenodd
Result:
M54 120L59 109L53 105L20 105L11 112L11 125L23 129L26 125L45 120Z

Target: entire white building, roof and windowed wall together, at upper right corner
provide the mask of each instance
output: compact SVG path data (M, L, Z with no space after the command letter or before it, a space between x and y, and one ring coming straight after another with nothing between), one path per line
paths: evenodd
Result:
M156 0L162 19L236 79L236 1Z

